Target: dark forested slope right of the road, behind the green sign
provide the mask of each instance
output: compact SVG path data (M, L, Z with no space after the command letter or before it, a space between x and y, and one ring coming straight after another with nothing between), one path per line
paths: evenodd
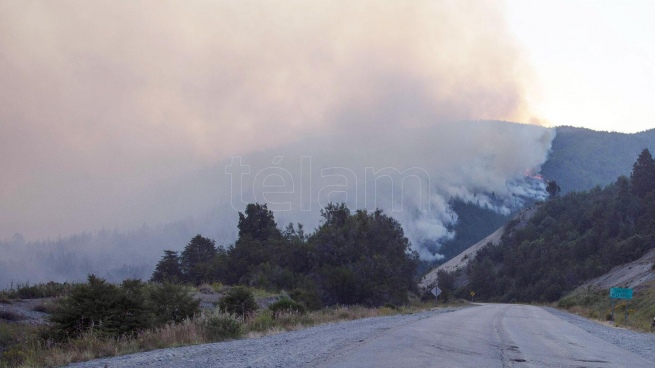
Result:
M553 195L528 224L510 223L498 245L469 264L461 295L503 302L554 301L655 248L655 161L644 149L630 177Z

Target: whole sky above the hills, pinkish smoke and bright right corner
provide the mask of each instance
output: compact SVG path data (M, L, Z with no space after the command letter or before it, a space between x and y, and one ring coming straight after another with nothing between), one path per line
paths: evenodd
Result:
M0 0L0 238L163 221L141 201L154 185L307 136L652 128L654 15L631 1Z

